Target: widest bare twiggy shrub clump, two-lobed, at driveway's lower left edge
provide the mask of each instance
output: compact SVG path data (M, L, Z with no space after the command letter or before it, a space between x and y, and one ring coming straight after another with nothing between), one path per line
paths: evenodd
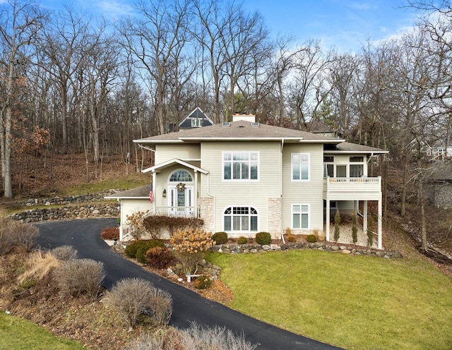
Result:
M129 330L143 315L154 316L159 324L169 322L172 314L172 298L166 291L156 289L142 278L121 279L114 284L106 298L107 304L116 309L126 320Z

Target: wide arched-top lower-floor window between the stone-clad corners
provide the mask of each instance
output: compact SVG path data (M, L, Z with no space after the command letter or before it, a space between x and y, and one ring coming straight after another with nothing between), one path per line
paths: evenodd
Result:
M257 231L257 210L254 207L228 207L225 210L225 231Z

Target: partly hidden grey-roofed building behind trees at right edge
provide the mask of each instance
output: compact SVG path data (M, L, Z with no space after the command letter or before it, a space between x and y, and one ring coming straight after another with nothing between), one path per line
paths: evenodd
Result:
M425 197L435 207L452 208L452 162L437 162L424 185Z

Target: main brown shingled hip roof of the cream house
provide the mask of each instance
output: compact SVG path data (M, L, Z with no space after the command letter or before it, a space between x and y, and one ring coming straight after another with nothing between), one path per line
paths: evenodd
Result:
M323 135L298 131L280 126L270 126L249 121L232 121L205 128L195 128L177 133L133 140L134 143L198 143L200 141L275 141L287 143L331 143L343 142L338 138L328 138Z

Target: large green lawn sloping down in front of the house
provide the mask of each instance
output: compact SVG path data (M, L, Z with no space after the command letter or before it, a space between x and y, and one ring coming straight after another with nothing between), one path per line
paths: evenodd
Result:
M452 349L452 279L425 260L210 253L230 307L345 349Z

